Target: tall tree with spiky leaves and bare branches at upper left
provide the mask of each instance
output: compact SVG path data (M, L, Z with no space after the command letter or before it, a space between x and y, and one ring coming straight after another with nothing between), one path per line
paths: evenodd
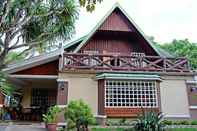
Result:
M71 38L77 17L73 0L1 0L0 70L16 49Z

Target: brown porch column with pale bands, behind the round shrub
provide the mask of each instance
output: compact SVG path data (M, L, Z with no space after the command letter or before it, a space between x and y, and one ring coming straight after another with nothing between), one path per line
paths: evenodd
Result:
M58 117L58 125L64 126L64 108L68 102L68 80L57 79L58 89L57 89L57 105L62 108L62 112Z

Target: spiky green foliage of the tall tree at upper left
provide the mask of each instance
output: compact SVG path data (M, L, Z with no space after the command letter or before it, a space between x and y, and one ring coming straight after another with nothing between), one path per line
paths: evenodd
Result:
M22 17L23 12L24 17L26 17L25 20L31 18L21 30L25 41L43 39L48 35L51 39L57 37L67 39L73 33L74 22L78 16L77 6L73 0L41 0L36 2L12 0L9 4L10 11L2 23L2 31L13 24L13 19L17 15ZM19 9L21 12L18 11ZM41 35L43 33L46 34Z

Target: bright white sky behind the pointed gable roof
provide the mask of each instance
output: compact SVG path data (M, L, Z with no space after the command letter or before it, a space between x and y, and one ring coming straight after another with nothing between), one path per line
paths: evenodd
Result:
M187 38L197 43L197 0L103 0L93 13L80 8L74 38L88 34L117 1L155 41Z

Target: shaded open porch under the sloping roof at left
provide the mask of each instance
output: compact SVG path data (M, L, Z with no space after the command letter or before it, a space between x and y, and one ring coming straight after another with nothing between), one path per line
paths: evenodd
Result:
M42 114L53 105L65 105L64 87L58 90L57 76L51 75L10 75L9 80L15 87L14 98L17 103L8 105L7 111L12 121L41 122ZM66 93L65 93L66 94Z

